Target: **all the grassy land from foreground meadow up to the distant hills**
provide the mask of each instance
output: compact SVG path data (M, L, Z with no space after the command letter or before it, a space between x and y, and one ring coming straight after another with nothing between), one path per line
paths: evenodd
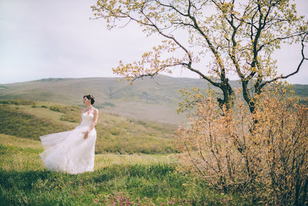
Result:
M178 169L172 144L177 125L107 112L182 122L171 113L181 98L177 89L205 84L181 81L161 77L160 86L145 81L129 89L113 78L0 85L0 205L255 205L240 193L222 194L191 171ZM307 97L307 85L295 87L296 94ZM81 106L72 104L82 101L81 92L101 95L95 95L95 171L48 171L39 158L44 151L39 136L77 127Z

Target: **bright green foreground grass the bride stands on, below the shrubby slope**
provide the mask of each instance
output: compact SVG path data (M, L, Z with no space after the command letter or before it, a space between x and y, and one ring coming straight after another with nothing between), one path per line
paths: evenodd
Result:
M40 142L0 135L0 205L225 205L192 174L177 172L172 154L95 155L95 171L71 175L44 168Z

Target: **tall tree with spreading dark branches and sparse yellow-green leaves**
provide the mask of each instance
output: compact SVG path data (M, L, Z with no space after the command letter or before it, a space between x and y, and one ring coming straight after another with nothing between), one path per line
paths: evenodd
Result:
M120 61L114 73L133 82L182 66L220 88L218 102L227 108L235 98L230 75L240 78L253 113L255 95L265 85L298 73L307 60L308 22L289 0L98 0L91 8L93 19L106 19L109 29L135 21L147 35L165 38L139 62ZM283 43L301 44L301 60L289 73L277 75L273 53ZM200 66L209 55L211 62Z

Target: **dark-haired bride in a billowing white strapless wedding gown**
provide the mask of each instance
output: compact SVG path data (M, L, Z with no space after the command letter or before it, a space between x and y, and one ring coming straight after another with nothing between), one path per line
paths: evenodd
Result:
M69 174L94 171L98 119L98 109L92 106L94 102L93 95L84 95L86 109L81 111L80 124L75 129L39 137L45 149L39 156L47 169Z

